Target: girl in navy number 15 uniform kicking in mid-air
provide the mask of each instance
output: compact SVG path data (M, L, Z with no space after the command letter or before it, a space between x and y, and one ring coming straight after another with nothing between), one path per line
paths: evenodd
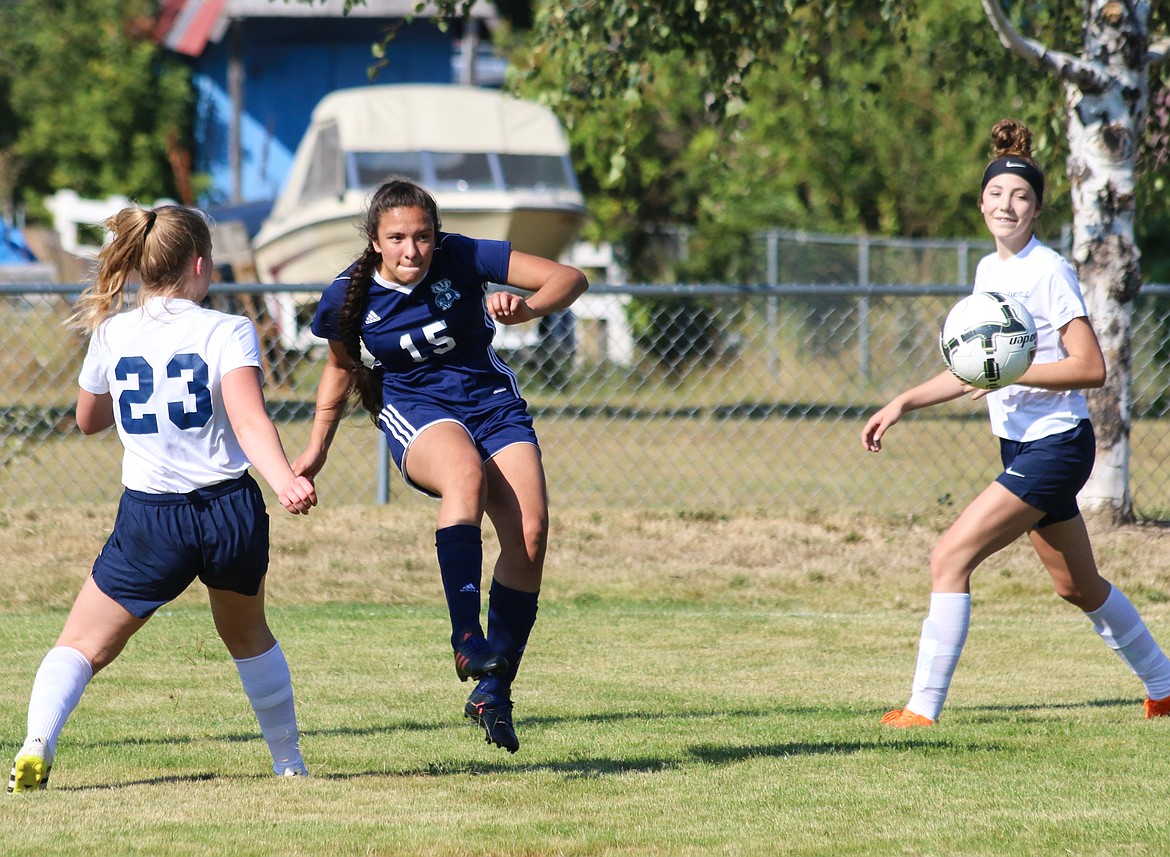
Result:
M516 376L491 348L495 322L518 324L570 306L589 283L576 268L440 232L434 199L392 179L373 194L365 252L325 289L312 331L329 340L308 448L314 477L347 399L381 428L406 482L439 498L435 547L455 671L479 684L464 713L515 753L511 685L536 622L549 512L532 419ZM488 294L488 283L534 294ZM373 355L362 362L362 345ZM481 522L500 541L480 624Z

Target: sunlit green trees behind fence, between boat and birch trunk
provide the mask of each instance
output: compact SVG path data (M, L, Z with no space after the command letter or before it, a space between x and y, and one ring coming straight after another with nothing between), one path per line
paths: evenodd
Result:
M663 273L639 254L652 246L642 233L659 224L691 228L676 274L720 279L750 276L737 260L764 228L978 234L987 131L1005 115L1037 129L1055 190L1046 222L1059 231L1067 221L1061 137L1051 129L1059 90L1039 71L1004 75L1003 48L977 6L921 0L896 25L853 18L818 32L815 50L811 39L790 26L762 46L736 82L737 101L722 104L689 50L647 57L638 97L610 94L617 108L604 94L565 95L573 70L535 37L512 60L523 94L553 94L598 235L628 246L642 277Z

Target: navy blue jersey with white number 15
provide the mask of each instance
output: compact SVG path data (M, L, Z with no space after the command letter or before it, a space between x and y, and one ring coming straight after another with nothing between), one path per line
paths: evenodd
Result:
M501 392L519 397L516 376L491 347L488 283L508 280L508 241L439 233L431 268L414 286L374 275L362 342L383 376L387 402L422 396L459 413ZM339 340L338 313L353 266L321 296L312 332Z

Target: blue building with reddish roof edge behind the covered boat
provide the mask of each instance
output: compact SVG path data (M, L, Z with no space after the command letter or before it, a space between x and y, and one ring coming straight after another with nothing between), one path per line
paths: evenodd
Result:
M417 0L164 0L159 41L191 57L198 94L193 169L211 178L204 206L253 205L280 192L314 107L371 83L498 85L484 0L441 30ZM410 20L407 20L410 19ZM393 33L384 63L372 46ZM469 60L469 61L468 61ZM262 215L262 214L261 214Z

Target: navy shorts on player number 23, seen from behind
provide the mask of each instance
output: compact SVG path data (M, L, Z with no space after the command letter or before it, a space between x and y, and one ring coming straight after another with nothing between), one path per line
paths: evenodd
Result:
M97 588L146 618L198 577L255 595L268 573L268 512L249 474L190 494L123 492L94 563Z

